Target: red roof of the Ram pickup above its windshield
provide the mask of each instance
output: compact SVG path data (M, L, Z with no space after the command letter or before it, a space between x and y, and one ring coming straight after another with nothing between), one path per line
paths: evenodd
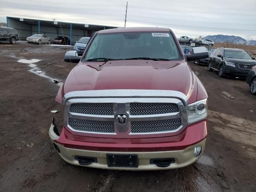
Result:
M128 27L114 28L98 31L98 34L104 33L120 33L120 32L170 32L169 28L164 27Z

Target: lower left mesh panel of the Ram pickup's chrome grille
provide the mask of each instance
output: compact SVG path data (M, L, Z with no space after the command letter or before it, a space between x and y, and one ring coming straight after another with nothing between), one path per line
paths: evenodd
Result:
M68 118L68 124L78 131L114 133L115 126L112 121L93 121Z

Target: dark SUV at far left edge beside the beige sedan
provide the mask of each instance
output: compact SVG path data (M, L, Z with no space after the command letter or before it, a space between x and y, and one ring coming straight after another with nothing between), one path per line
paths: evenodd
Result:
M16 29L0 27L0 42L10 42L15 44L19 40L19 34Z

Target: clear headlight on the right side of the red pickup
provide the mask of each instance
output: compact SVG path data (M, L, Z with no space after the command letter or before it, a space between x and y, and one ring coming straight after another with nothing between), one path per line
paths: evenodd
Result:
M188 105L188 124L203 120L207 117L207 99Z

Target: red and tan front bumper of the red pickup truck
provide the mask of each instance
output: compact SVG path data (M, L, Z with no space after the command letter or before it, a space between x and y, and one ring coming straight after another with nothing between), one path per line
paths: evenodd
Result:
M176 140L177 137L170 137L170 142L165 143L152 142L151 144L138 144L138 142L131 142L130 144L124 144L123 142L122 144L117 144L113 142L113 139L112 143L96 143L86 142L87 139L84 136L70 135L65 127L63 127L60 136L58 136L56 127L52 124L49 129L49 136L54 144L54 148L58 151L58 154L70 164L80 165L75 157L85 156L97 158L97 162L92 162L91 164L86 165L92 168L164 170L188 166L196 162L196 160L202 156L207 136L206 120L188 126L184 132L184 137L182 136L182 139L179 141ZM74 138L72 138L72 136L74 136ZM81 138L85 138L84 141L82 141ZM194 148L197 146L202 146L202 150L198 157L194 157ZM106 158L107 154L137 154L139 166L138 168L108 167ZM158 167L156 164L150 164L150 159L156 158L173 158L175 162L170 164L168 167Z

